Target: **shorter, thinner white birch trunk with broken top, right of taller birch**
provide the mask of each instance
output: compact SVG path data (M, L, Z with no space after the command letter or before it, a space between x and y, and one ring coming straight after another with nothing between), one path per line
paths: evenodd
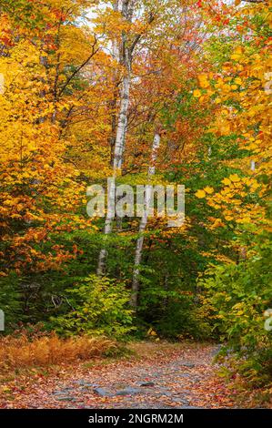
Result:
M160 134L156 132L155 138L153 141L152 146L152 157L151 157L151 166L148 168L148 177L152 177L156 173L156 159L157 159L157 153L158 149L160 147ZM144 215L141 219L140 226L139 226L139 233L140 237L136 241L136 253L135 253L135 261L134 261L134 272L133 272L133 281L132 281L132 296L131 296L131 305L133 308L137 309L138 304L138 295L140 290L140 281L139 281L139 274L140 274L140 265L142 262L143 257L143 248L145 243L145 236L144 233L146 231L146 226L148 222L148 210L150 206L150 200L151 200L151 192L148 190L146 191L146 209L144 211Z

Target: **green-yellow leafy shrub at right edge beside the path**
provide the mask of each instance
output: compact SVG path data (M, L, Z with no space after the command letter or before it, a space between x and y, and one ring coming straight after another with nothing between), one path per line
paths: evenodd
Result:
M272 331L265 328L272 308L270 249L262 244L240 264L212 267L199 281L205 290L205 318L227 343L221 356L252 387L272 382Z

